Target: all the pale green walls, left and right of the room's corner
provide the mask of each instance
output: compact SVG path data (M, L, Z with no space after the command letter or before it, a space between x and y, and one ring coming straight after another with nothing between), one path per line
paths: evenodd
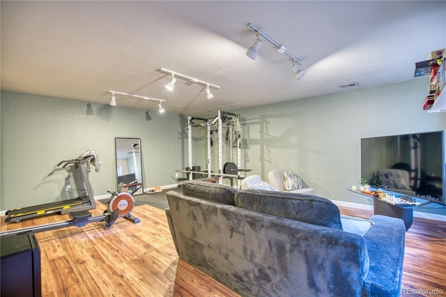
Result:
M300 82L299 82L300 83ZM371 205L349 192L360 179L360 139L446 129L446 113L422 110L426 77L367 89L240 110L242 167L268 180L272 169L289 169L329 199ZM145 188L176 183L187 167L187 116L1 92L0 210L68 197L64 159L98 152L91 172L95 196L116 188L114 137L141 138ZM213 117L216 114L211 114ZM213 164L217 136L214 135ZM194 135L194 165L206 169L206 136ZM51 174L51 175L50 175ZM446 210L427 210L446 215Z

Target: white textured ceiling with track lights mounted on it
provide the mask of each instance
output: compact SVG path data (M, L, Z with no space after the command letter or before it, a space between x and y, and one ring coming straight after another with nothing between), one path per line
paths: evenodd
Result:
M266 42L249 59L248 22L286 45L305 76ZM191 116L413 79L415 62L445 46L446 1L1 1L1 89L102 104L114 90ZM221 89L208 100L177 77L169 92L160 68Z

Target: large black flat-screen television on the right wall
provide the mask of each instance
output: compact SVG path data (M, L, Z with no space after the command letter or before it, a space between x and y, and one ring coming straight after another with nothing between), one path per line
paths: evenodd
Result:
M361 139L361 178L403 195L445 202L445 131Z

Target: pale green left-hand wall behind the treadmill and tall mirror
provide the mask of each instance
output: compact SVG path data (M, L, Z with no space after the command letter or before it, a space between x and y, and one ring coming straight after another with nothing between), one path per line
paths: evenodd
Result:
M77 197L56 165L89 149L102 161L90 173L93 195L116 190L114 137L141 138L145 188L176 183L175 169L187 166L187 117L87 104L1 91L1 211Z

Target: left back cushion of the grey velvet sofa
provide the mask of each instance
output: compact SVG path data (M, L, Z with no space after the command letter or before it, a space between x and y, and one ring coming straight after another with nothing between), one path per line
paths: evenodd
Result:
M181 188L183 194L222 204L236 205L234 195L238 190L231 185L208 183L206 181L185 181Z

